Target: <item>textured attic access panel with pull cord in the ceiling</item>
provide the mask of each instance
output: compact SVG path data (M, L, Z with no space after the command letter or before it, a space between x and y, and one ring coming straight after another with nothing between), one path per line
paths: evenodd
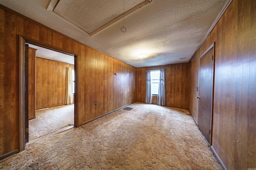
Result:
M90 34L144 1L59 0L53 11Z

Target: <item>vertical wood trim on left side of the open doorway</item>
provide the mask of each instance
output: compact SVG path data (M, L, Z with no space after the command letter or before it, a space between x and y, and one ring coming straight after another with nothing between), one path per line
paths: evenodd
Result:
M25 45L25 40L22 36L19 35L19 60L20 60L20 99L19 99L19 102L20 102L20 113L19 113L19 129L20 129L20 151L24 150L25 149L25 130L24 130L24 127L25 127L25 119L24 119L24 114L25 114L25 110L24 110L24 84L25 84L25 81L24 81L24 78L25 78L25 75L24 75L24 45Z

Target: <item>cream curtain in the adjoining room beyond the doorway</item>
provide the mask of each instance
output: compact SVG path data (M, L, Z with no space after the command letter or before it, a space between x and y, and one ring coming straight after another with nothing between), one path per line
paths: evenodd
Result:
M72 68L66 67L66 96L65 104L73 104L73 80L72 80Z

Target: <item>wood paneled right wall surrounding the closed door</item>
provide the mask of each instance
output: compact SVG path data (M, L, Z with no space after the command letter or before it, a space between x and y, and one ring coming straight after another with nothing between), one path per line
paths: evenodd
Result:
M227 169L256 168L256 1L233 0L190 61L197 119L200 55L215 42L212 149Z

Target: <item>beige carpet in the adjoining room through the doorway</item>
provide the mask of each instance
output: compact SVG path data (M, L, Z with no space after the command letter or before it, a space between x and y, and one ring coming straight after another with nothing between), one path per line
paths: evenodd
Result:
M28 139L31 141L70 125L74 125L74 104L36 110L36 118L28 121Z

